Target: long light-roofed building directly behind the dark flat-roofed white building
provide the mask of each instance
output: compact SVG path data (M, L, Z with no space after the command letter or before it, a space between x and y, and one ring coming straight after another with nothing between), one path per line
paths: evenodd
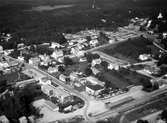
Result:
M86 77L86 80L90 82L92 85L101 85L104 86L104 82L98 80L97 78L93 76Z

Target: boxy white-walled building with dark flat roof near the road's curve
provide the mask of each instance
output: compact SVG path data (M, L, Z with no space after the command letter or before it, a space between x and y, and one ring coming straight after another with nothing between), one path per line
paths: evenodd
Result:
M102 89L103 87L100 85L93 85L93 84L86 85L86 92L93 96L97 96L102 91Z

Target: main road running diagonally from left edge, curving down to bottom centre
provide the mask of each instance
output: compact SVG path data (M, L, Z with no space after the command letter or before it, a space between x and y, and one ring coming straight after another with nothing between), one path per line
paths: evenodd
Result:
M13 59L13 60L15 60L15 61L18 61L17 59L12 58L12 57L10 57L10 56L4 56L4 57ZM20 61L18 61L18 62L20 62ZM57 85L63 87L65 91L68 91L69 93L71 93L71 94L73 94L73 95L75 95L75 96L81 98L81 99L85 102L85 106L84 106L84 117L85 117L86 121L88 121L89 123L93 123L93 122L94 122L94 121L88 116L87 111L88 111L88 107L89 107L89 100L88 100L84 95L80 94L80 92L76 91L75 89L73 89L73 88L70 87L69 85L64 84L62 81L60 81L59 79L57 79L57 78L55 78L54 76L50 75L49 73L47 73L47 72L45 72L45 71L43 71L43 70L41 70L41 69L38 69L38 68L36 68L36 67L34 67L34 66L32 66L32 65L29 65L29 64L27 64L27 63L24 63L24 64L25 64L25 66L28 67L29 69L33 69L33 70L37 71L38 73L43 74L43 75L49 77L49 78L52 80L52 82L54 82L55 84L57 84Z

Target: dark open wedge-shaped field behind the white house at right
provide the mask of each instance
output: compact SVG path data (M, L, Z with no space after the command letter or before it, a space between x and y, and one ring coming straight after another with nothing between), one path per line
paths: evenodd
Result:
M126 42L106 47L102 52L129 62L138 62L140 54L150 54L152 43L143 37L129 39Z

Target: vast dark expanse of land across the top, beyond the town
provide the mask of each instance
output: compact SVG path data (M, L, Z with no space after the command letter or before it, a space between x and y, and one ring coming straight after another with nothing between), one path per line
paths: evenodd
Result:
M127 25L131 17L148 17L159 8L164 8L150 5L150 2L143 7L143 4L132 0L96 0L97 9L92 9L92 2L93 0L0 0L0 32L10 32L30 41L54 40L57 32L73 33L86 28L113 30ZM103 23L101 19L106 19L107 22Z

